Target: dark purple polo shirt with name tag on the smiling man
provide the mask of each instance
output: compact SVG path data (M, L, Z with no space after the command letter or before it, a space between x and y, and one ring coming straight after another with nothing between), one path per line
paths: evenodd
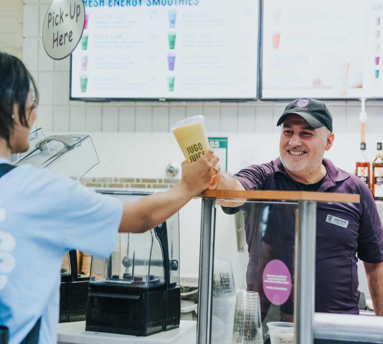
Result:
M327 169L318 192L357 193L360 203L318 203L316 235L315 311L358 314L358 258L368 263L383 261L383 227L373 196L359 178L341 170L328 159ZM247 190L303 189L285 172L280 158L262 165L252 165L234 175ZM262 271L268 261L282 260L294 277L293 204L250 204L242 206L246 241L249 247L247 289L261 296L262 315L270 303L262 288ZM239 208L224 208L236 213ZM348 221L342 226L334 218ZM327 221L326 221L327 220ZM357 258L358 256L358 258ZM293 313L292 295L281 306L284 313Z

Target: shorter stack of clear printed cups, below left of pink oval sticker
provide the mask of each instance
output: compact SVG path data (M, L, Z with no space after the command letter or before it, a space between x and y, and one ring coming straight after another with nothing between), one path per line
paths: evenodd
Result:
M261 307L257 292L237 293L233 344L263 344Z

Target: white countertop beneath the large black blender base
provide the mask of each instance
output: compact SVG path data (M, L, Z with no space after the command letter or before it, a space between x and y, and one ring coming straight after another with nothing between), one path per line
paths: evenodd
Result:
M77 321L59 324L57 344L195 344L196 332L196 321L181 320L179 328L147 337L85 331L85 321Z

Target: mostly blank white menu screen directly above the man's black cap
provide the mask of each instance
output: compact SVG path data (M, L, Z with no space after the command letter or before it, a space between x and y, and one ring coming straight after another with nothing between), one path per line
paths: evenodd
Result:
M262 98L361 97L365 3L264 1Z

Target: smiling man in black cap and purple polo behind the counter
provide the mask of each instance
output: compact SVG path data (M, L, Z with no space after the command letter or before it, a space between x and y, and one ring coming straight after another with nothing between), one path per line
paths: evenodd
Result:
M279 118L280 157L252 165L234 176L218 174L211 189L305 190L358 193L360 204L318 203L316 240L316 312L358 314L358 258L363 260L375 313L383 315L383 227L375 201L365 183L324 159L334 142L332 117L316 99L290 102ZM223 210L244 211L249 247L247 289L261 297L264 318L273 303L262 285L268 261L282 261L294 278L295 205L224 202ZM230 208L229 208L230 207ZM266 216L262 229L262 215ZM358 258L357 258L358 256ZM280 305L280 303L277 303ZM280 305L281 320L291 320L293 299Z

